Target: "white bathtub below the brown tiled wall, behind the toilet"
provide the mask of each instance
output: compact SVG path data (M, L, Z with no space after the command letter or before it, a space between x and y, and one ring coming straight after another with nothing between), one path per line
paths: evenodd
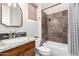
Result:
M47 41L43 45L51 50L52 56L69 56L68 44Z

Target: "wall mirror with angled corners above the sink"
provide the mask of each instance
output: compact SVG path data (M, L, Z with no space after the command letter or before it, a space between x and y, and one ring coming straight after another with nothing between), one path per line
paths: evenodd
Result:
M23 13L17 3L2 3L2 21L1 23L9 27L20 27L23 22Z

